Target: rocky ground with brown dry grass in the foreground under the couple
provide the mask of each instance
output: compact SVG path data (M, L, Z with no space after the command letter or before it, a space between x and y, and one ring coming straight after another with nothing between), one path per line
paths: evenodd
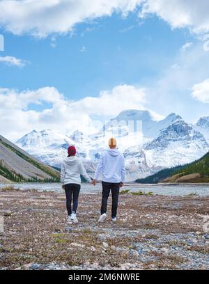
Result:
M117 223L99 215L99 194L67 225L64 194L1 190L0 269L209 269L209 196L123 194Z

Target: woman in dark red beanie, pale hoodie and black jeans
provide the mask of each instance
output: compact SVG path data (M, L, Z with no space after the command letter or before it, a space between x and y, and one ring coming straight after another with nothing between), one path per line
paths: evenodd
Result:
M65 189L68 222L72 221L73 223L78 222L76 211L78 207L79 191L81 189L81 175L87 182L91 182L91 178L89 178L86 173L82 161L75 155L75 146L70 146L68 148L68 157L65 157L61 164L61 183L63 189ZM71 207L72 200L73 204Z

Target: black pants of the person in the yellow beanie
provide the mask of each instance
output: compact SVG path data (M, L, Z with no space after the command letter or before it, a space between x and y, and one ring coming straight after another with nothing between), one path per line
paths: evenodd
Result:
M116 217L117 208L118 208L118 196L120 190L120 182L112 183L112 182L102 182L102 207L101 214L107 212L107 200L109 198L109 193L111 191L111 217Z

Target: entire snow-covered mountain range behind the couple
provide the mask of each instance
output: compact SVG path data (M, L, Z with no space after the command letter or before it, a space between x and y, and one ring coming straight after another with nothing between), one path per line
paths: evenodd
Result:
M136 180L162 168L189 163L208 152L209 118L200 118L196 125L189 125L176 113L159 120L150 111L127 110L93 135L85 135L79 129L70 137L50 129L33 130L19 139L17 145L57 167L68 146L76 145L87 171L93 173L110 136L116 137L125 156L127 181Z

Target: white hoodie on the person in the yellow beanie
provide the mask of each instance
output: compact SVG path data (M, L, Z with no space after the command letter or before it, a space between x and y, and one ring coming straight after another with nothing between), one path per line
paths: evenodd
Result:
M95 171L95 180L102 173L103 182L125 182L125 160L118 149L109 149L102 152L98 168Z

